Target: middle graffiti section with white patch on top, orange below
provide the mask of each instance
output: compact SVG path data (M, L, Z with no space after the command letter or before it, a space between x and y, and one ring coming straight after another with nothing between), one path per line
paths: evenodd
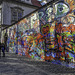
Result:
M18 23L18 54L26 55L37 60L44 60L43 39L41 40L42 36L39 33L38 20L34 14L31 17L33 18L30 20L29 17ZM30 25L30 22L33 23ZM26 25L27 27L30 25L30 28L26 28Z

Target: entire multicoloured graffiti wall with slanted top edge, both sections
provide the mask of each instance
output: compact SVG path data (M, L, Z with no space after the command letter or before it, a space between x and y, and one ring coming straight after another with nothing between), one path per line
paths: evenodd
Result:
M7 30L9 52L75 67L74 0L48 4Z

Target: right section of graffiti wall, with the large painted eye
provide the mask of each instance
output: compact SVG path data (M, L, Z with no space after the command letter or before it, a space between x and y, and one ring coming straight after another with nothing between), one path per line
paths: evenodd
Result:
M64 0L39 10L45 60L75 61L75 2ZM60 62L59 61L59 62Z

